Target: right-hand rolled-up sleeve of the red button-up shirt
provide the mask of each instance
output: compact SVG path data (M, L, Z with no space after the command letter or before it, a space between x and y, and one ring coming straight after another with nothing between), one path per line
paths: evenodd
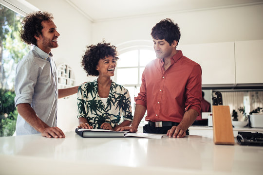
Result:
M202 69L195 65L190 73L186 86L186 111L191 108L200 114L202 99Z

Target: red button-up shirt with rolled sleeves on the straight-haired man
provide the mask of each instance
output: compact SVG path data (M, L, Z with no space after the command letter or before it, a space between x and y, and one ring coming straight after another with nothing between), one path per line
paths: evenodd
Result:
M142 74L136 105L147 108L146 121L180 123L189 108L200 113L202 70L199 64L177 51L164 70L162 59L152 60Z

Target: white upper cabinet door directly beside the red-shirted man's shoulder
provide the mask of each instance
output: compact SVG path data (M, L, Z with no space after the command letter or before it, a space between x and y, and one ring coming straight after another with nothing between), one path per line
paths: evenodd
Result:
M234 42L182 45L178 50L200 64L202 85L235 84Z

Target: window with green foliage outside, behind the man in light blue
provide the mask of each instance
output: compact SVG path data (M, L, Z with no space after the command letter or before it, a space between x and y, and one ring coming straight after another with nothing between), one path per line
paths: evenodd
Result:
M20 41L22 18L0 4L0 137L12 136L16 128L15 70L17 63L30 51L30 47Z

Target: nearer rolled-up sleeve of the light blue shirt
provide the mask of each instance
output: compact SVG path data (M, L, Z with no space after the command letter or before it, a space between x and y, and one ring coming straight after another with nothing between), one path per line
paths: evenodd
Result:
M15 105L21 103L31 105L37 80L38 69L34 63L24 60L18 64L15 78Z

